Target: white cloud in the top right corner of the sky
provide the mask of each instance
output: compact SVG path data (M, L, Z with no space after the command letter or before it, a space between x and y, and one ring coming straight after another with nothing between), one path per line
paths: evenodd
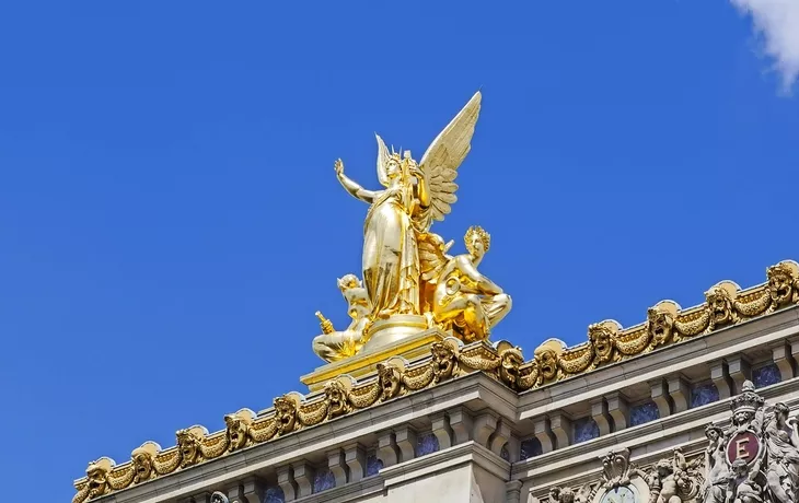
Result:
M789 92L799 78L799 0L730 1L752 16L765 52L781 74L784 91Z

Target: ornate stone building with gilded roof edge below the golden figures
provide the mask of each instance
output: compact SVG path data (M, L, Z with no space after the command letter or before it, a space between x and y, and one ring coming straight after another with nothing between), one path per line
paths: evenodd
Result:
M799 501L799 267L572 348L420 332L174 447L101 458L73 503Z

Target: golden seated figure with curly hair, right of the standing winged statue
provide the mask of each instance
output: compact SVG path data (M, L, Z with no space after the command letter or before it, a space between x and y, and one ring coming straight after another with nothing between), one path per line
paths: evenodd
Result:
M479 226L464 236L467 254L450 257L441 236L426 234L419 242L421 279L429 305L428 318L452 330L465 342L487 339L491 328L510 311L511 299L502 289L477 271L491 237ZM431 295L431 299L429 297Z

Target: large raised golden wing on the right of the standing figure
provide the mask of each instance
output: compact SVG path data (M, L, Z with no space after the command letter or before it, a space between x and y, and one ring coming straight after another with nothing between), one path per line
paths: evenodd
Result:
M458 200L458 167L472 149L472 136L477 124L483 95L475 93L466 106L430 143L419 163L430 192L429 217L442 221Z

